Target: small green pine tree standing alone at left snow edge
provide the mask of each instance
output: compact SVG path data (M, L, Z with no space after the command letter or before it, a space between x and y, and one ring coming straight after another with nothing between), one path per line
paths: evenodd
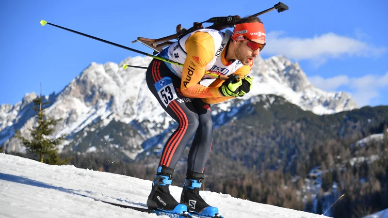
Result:
M44 102L42 90L40 96L36 97L33 102L39 107L33 106L33 109L37 111L37 114L35 115L37 125L34 128L29 129L32 140L27 140L21 136L19 130L15 130L15 137L22 140L27 152L38 156L40 162L54 165L66 164L69 159L61 159L58 155L58 149L56 148L57 145L60 145L62 141L65 140L65 137L61 136L55 139L50 138L50 135L54 131L53 127L62 119L46 117L44 106L49 104L49 102Z

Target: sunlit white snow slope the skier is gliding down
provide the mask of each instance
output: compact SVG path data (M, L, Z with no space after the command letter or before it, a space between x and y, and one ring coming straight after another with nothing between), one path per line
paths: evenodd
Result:
M92 199L145 207L151 187L148 180L78 169L70 165L47 165L1 153L0 166L1 218L157 218L155 214ZM176 199L179 199L181 190L181 187L170 187ZM217 206L225 218L325 217L237 199L227 194L210 191L200 193L210 205Z

